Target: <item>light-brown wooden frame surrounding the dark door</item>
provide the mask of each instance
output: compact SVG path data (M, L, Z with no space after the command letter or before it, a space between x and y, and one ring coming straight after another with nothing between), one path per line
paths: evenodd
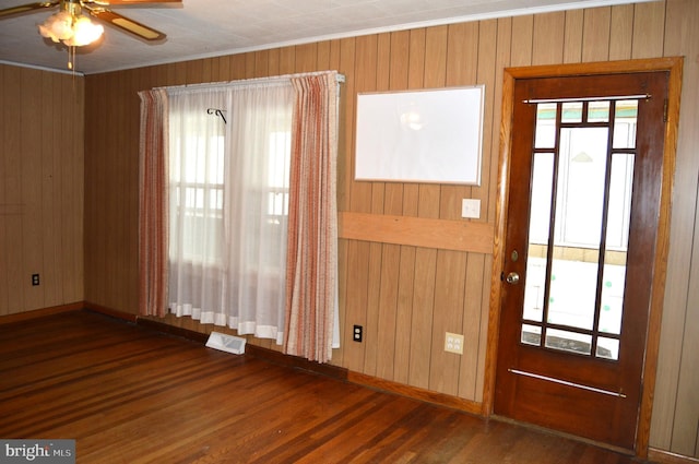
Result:
M677 148L677 128L679 124L679 94L682 88L683 58L657 58L625 61L605 61L594 63L534 66L506 68L502 85L502 120L500 123L500 153L498 162L497 199L495 215L495 240L493 247L493 274L490 276L490 300L488 314L488 341L486 352L485 384L483 391L483 411L486 417L493 414L495 396L495 376L500 324L500 279L505 263L505 239L510 185L511 135L514 126L513 99L514 82L522 79L560 78L567 75L594 75L613 73L635 73L668 71L667 122L665 123L663 176L660 198L660 217L657 223L656 251L653 261L653 282L651 286L650 314L643 361L642 394L636 436L636 455L648 457L653 394L657 352L660 347L660 328L665 294L667 253L670 248L670 219L672 187L675 174L675 154Z

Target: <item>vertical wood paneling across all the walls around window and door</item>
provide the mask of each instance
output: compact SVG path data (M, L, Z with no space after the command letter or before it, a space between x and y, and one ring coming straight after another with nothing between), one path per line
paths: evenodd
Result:
M462 227L465 235L482 237L491 234L495 219L506 67L685 56L651 445L699 456L697 24L698 1L667 0L415 28L88 75L84 195L83 81L0 67L0 312L83 297L105 308L135 312L140 90L336 69L347 78L342 87L339 163L340 209L343 221L351 222L345 230L352 230L356 221L376 225L398 216L430 227ZM358 92L471 84L486 85L482 186L353 180ZM67 88L76 88L78 103L67 100ZM482 201L481 219L459 218L463 198ZM84 295L83 249L76 238L82 237L83 199ZM443 240L458 240L449 237ZM343 347L333 362L477 405L485 374L491 255L482 248L438 247L420 240L354 235L341 240ZM37 266L43 283L32 288L28 277ZM59 279L60 285L52 284ZM211 330L187 319L166 321ZM364 343L351 341L353 324L364 325ZM465 335L463 356L443 352L446 331ZM272 347L265 341L251 343Z

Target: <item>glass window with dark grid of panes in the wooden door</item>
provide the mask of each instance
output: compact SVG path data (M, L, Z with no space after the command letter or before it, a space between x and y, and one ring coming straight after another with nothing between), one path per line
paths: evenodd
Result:
M618 359L637 109L635 99L537 105L523 344ZM572 134L579 130L584 135L577 144L571 143L576 138ZM607 143L609 130L612 140ZM571 182L570 178L571 166L591 164L594 159L588 150L570 148L584 147L587 141L594 140L599 143L601 140L603 146L601 154L593 153L603 163L603 194L596 194L603 206L594 224L590 221L576 224L580 209L585 207L580 198L590 202L592 193L585 183L584 168L576 189L576 179ZM578 195L576 203L574 197L570 201L565 194L567 189L578 192L582 189L584 194ZM555 215L550 214L552 207ZM606 230L604 237L602 230ZM552 272L556 267L562 273ZM573 278L564 285L561 276L566 274ZM580 281L590 283L592 295L580 294ZM583 318L579 311L570 310L585 300Z

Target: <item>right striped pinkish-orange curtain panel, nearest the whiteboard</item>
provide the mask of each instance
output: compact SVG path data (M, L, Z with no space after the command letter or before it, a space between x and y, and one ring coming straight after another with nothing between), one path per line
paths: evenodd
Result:
M293 76L285 353L332 357L337 286L336 72Z

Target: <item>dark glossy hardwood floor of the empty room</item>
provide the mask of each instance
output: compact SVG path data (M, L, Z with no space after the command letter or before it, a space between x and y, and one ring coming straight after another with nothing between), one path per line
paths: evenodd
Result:
M0 438L78 463L566 463L628 456L103 314L0 324Z

